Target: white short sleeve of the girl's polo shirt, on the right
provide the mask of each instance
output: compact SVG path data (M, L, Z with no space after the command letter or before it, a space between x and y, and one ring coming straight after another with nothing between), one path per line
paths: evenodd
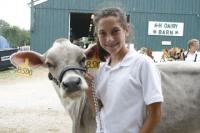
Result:
M146 105L163 102L160 72L150 58L145 58L141 64L140 81Z

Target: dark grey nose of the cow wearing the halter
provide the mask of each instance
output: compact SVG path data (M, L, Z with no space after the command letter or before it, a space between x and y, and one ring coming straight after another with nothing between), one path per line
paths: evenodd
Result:
M67 92L77 91L80 89L81 78L80 77L69 77L68 79L63 81L62 85L63 85L63 88Z

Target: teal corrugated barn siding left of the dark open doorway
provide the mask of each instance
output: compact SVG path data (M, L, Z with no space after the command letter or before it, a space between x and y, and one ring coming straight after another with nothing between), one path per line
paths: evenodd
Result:
M68 10L35 8L35 23L31 33L31 48L43 53L51 47L53 41L68 37Z

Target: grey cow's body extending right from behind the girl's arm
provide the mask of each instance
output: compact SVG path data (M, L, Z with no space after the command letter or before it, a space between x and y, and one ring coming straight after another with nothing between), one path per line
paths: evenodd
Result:
M157 67L164 103L156 133L200 132L200 63L169 62Z

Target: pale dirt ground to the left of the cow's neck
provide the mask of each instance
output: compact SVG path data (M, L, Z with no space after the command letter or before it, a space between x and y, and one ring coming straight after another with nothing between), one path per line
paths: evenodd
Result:
M31 78L0 71L0 133L71 133L71 126L46 69Z

